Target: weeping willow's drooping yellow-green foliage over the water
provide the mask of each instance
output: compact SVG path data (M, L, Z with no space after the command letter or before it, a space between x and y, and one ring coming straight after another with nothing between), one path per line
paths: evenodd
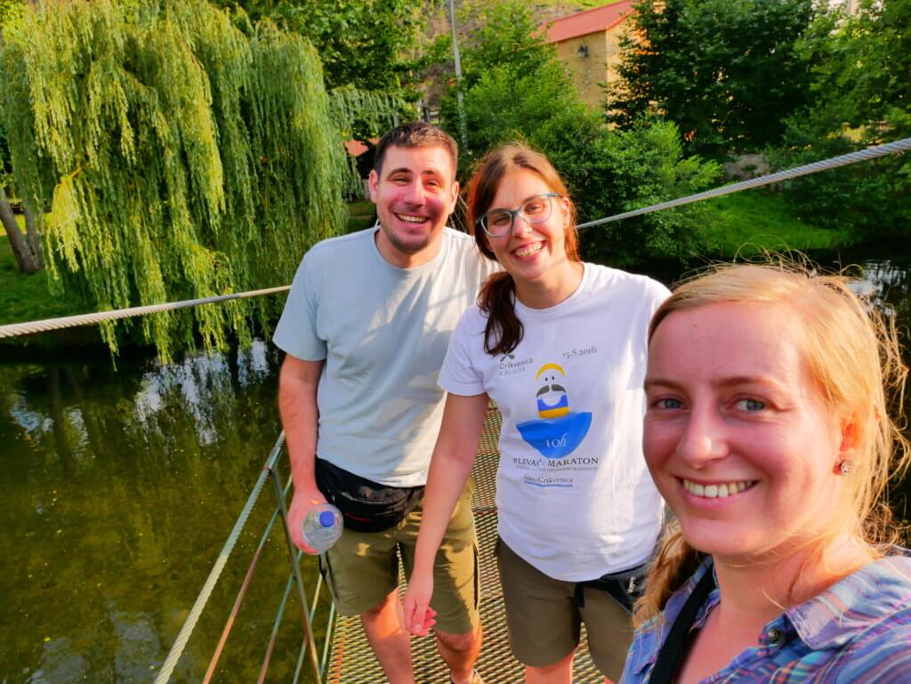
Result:
M36 216L49 208L48 271L98 311L287 283L342 227L341 114L301 36L242 32L203 0L70 0L29 11L0 49L17 186ZM213 304L102 335L116 353L138 326L167 359L247 341L279 307Z

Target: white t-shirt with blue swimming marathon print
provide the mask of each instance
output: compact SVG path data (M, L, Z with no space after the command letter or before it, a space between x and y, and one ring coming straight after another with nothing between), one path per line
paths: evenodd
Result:
M663 509L642 456L647 331L669 291L586 263L578 290L545 310L516 303L511 354L484 351L486 314L455 328L440 385L487 393L503 414L499 534L548 577L580 582L644 561Z

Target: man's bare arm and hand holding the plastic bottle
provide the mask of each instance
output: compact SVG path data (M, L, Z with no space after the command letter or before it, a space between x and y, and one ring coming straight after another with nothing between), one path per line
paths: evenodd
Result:
M313 550L303 543L303 516L314 502L322 503L326 500L316 488L313 470L319 417L316 388L320 382L322 364L322 361L302 361L288 354L281 365L279 376L279 413L294 481L294 498L288 509L288 526L294 544L307 553L313 553Z

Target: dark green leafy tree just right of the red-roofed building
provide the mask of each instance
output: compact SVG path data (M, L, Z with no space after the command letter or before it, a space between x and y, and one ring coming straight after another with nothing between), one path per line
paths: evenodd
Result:
M807 101L796 44L812 17L812 0L642 0L620 43L610 117L630 128L663 115L701 154L776 143Z

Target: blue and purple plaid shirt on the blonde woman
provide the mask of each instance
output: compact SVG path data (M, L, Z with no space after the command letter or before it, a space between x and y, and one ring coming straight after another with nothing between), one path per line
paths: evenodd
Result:
M896 549L768 623L704 684L907 684L911 682L911 551ZM670 597L664 619L637 630L620 684L646 684L658 649L711 558ZM719 600L712 590L696 613L701 628Z

